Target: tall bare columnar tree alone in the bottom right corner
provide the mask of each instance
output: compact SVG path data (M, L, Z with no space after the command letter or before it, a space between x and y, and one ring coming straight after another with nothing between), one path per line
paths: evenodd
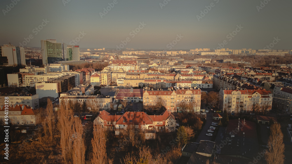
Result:
M283 164L285 160L285 145L283 143L281 126L278 123L274 123L270 129L271 132L268 140L268 151L265 154L267 164Z

